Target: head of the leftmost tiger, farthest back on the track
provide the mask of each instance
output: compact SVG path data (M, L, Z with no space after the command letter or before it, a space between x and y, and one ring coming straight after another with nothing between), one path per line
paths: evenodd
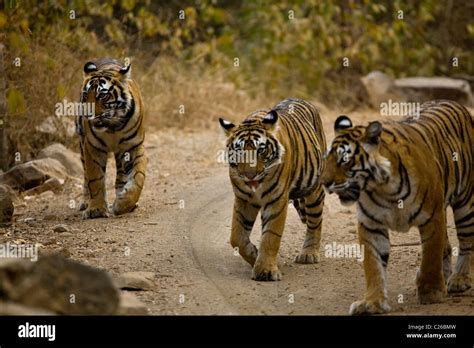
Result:
M135 104L129 91L131 66L115 59L101 59L84 65L82 103L93 103L94 114L87 115L92 128L98 132L120 130Z

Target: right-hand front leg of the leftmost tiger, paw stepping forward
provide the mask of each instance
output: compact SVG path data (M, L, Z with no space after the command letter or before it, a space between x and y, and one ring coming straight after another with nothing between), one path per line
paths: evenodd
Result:
M114 215L121 215L137 207L145 183L146 158L143 144L133 150L115 153L115 165L115 201L111 211Z

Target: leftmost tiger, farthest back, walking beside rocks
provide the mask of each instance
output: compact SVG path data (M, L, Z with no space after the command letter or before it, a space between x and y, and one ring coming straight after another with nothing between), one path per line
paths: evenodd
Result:
M84 168L82 218L121 215L134 210L145 182L144 106L131 65L105 58L84 65L81 103L92 115L76 117ZM105 172L108 154L116 164L115 201L107 206Z

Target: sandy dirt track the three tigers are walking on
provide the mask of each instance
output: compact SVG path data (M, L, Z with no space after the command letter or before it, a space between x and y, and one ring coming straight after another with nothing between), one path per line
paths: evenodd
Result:
M328 139L332 117L325 115ZM367 119L358 114L356 118ZM69 207L71 199L80 197L80 181L69 182L63 195L32 199L17 208L17 222L0 231L0 241L38 242L45 249L60 250L117 274L156 272L157 289L137 292L152 314L347 314L350 304L363 294L362 265L356 259L324 257L324 246L357 242L354 210L327 196L321 262L299 265L293 259L303 242L304 226L290 207L279 256L282 281L252 281L250 266L234 255L228 242L233 193L226 166L216 163L221 148L217 127L193 133L149 133L147 181L135 212L82 221L79 212ZM113 171L112 164L109 170ZM109 192L112 183L110 176ZM27 217L35 222L22 222ZM52 231L59 222L69 226L69 233ZM456 246L451 216L448 225ZM259 229L257 224L254 242ZM474 314L473 289L449 296L442 304L418 305L417 231L391 236L388 281L393 314ZM398 303L400 295L403 303Z

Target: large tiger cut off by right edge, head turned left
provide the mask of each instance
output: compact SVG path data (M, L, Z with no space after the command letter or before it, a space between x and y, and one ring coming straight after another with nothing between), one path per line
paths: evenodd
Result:
M471 287L474 247L474 119L454 101L423 103L417 115L353 126L348 116L334 124L321 182L343 205L356 203L358 238L364 249L366 292L349 314L391 310L386 275L388 230L417 227L421 265L416 274L418 301L441 302L447 293ZM447 236L451 206L459 240L454 272Z

